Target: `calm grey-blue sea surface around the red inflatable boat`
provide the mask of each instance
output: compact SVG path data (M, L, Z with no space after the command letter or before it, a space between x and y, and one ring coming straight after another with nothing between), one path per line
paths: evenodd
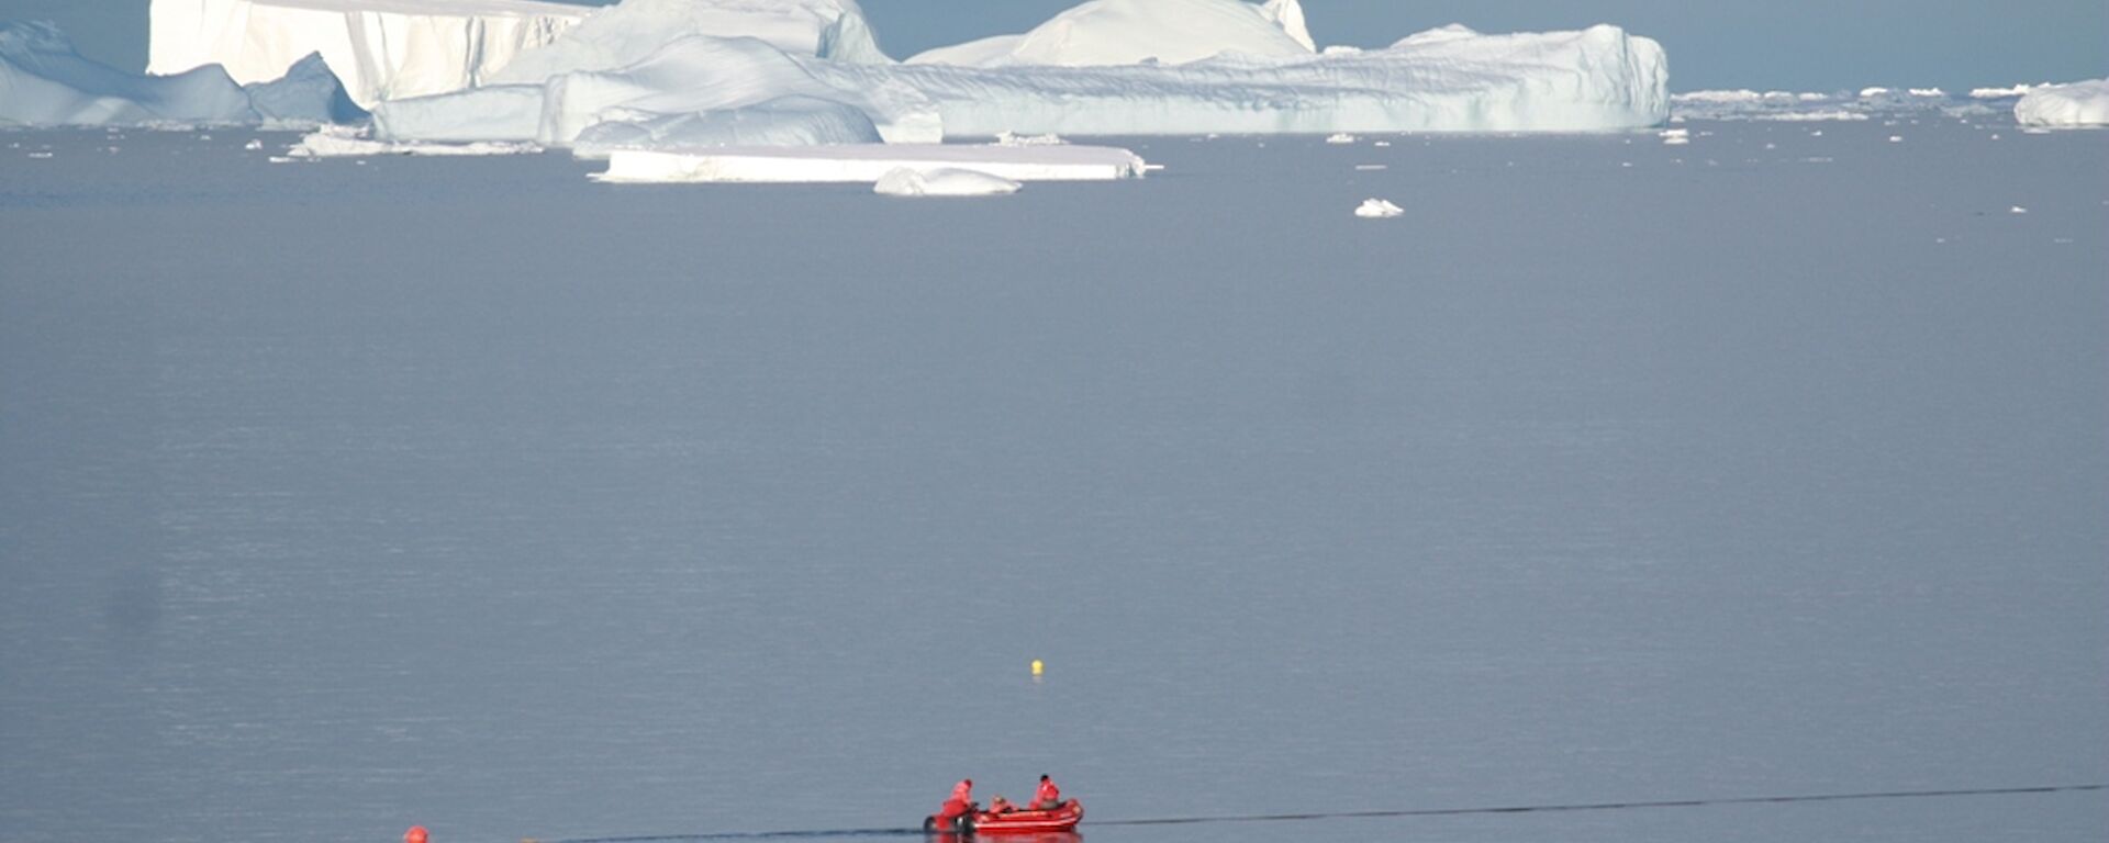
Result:
M2109 133L1687 126L1128 139L1168 169L995 200L0 133L0 839L2109 780Z

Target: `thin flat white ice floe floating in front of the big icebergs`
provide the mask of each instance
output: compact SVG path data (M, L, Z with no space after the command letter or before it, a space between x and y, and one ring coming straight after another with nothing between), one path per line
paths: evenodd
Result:
M1105 145L941 145L865 143L814 148L618 150L599 181L865 181L892 171L976 171L1010 181L1135 179L1149 166L1141 156Z

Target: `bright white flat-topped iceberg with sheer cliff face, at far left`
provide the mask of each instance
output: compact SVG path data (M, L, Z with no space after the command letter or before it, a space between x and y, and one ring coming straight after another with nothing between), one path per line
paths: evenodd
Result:
M321 53L371 107L483 84L591 11L534 0L152 0L148 72L217 63L236 82L262 82Z

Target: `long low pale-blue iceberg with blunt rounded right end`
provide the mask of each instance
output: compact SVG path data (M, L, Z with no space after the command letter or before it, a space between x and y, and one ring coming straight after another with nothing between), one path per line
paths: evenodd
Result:
M816 65L814 76L846 89L905 82L934 101L945 137L1603 131L1668 118L1662 46L1613 25L1449 27L1381 51L1185 65Z

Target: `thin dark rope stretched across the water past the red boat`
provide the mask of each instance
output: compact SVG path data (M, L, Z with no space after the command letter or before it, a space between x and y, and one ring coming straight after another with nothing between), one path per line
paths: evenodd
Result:
M1196 818L1156 818L1156 820L1092 820L1084 822L1084 826L1196 826L1206 822L1308 822L1308 820L1415 818L1415 816L1468 816L1468 813L1637 811L1637 809L1706 807L1706 805L1841 803L1860 799L2016 797L2031 792L2077 792L2077 790L2109 790L2109 784L1814 792L1795 797L1649 799L1649 801L1624 801L1624 803L1565 803L1565 805L1405 807L1394 811L1244 813L1244 816L1196 816ZM924 835L924 830L922 828L742 830L742 832L717 832L717 835L572 837L561 841L536 841L536 843L679 843L679 841L768 841L768 839L905 837L905 835Z

